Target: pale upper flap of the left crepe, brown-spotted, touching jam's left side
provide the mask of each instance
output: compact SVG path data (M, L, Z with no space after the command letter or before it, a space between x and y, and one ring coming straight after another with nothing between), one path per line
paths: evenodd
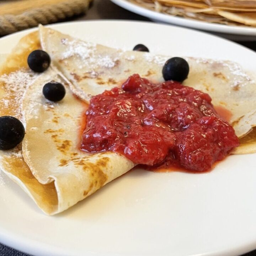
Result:
M46 100L42 85L52 80L64 83L55 70L49 69L26 90L22 154L40 183L54 181L58 194L58 208L54 213L57 213L129 171L134 164L117 153L89 154L79 149L85 105L67 85L62 101Z

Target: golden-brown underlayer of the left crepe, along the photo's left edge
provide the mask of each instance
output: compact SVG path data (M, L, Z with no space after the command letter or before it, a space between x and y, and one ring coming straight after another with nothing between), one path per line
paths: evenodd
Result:
M21 108L17 106L17 102L21 102L26 86L34 79L24 60L31 50L37 49L39 46L38 32L28 34L20 40L17 47L12 50L4 64L2 64L0 74L4 74L4 76L0 77L1 116L22 117ZM26 73L27 76L25 75L25 77L31 79L26 84L17 85L15 89L18 90L13 90L14 87L10 87L7 81L15 82L17 74L21 75L21 73ZM0 151L0 168L7 176L18 183L44 212L51 213L56 210L58 199L54 183L42 185L37 181L23 159L21 145L18 145L13 150Z

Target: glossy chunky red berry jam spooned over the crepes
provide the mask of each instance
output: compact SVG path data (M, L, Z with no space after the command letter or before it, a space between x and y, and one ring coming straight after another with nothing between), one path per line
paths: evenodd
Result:
M115 151L136 164L206 171L239 145L208 94L135 74L91 99L80 148Z

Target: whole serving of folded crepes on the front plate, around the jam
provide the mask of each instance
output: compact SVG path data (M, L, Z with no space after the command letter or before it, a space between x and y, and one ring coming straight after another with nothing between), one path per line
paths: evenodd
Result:
M52 58L42 74L27 66L28 54L38 48ZM134 73L163 81L162 66L169 58L84 42L42 26L39 34L22 38L0 69L0 115L22 120L26 135L22 145L0 151L2 171L45 213L56 214L132 169L135 164L118 153L79 149L86 103L92 95L121 86ZM185 85L207 92L215 106L227 108L237 135L249 133L256 126L254 81L235 63L187 60ZM42 95L50 81L64 84L62 101L50 102ZM255 152L255 140L250 137L250 142L236 153Z

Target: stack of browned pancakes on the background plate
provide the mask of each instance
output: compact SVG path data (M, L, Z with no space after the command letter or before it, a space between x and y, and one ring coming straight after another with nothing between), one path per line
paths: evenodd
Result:
M171 15L227 25L256 26L256 1L135 0L135 2Z

